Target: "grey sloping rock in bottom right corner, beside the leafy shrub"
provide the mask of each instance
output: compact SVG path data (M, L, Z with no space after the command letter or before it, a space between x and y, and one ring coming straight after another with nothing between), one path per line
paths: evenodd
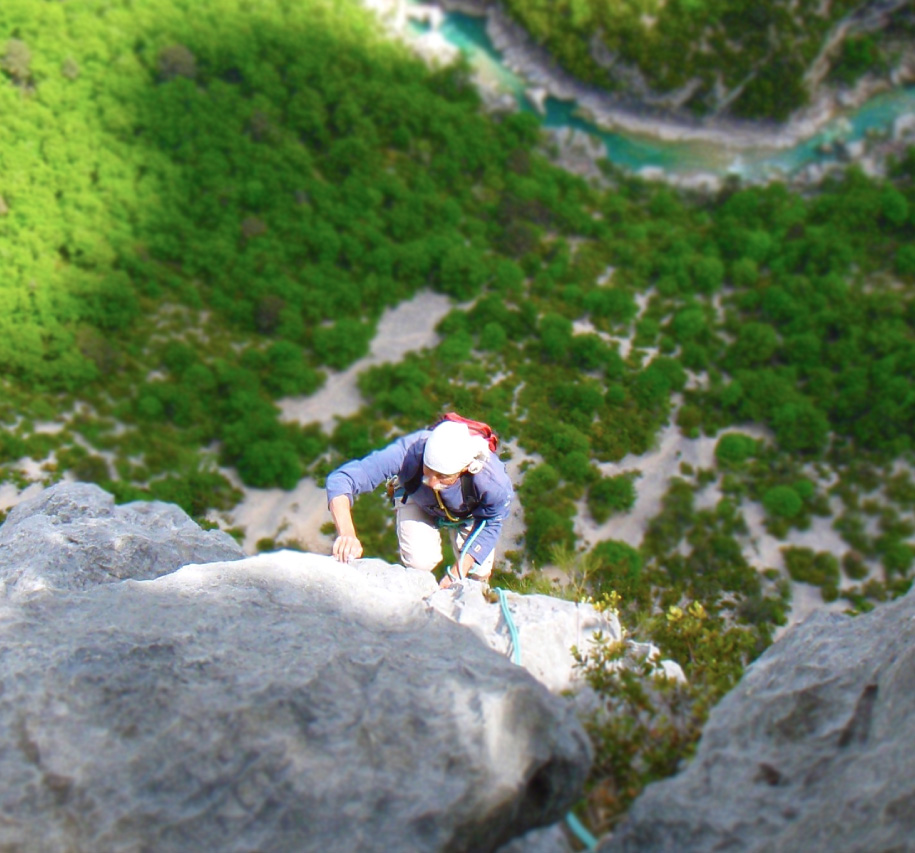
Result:
M789 631L603 853L915 851L915 593Z

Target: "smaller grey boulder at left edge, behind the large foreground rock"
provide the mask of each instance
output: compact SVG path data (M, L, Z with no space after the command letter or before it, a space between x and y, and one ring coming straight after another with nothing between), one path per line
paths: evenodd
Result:
M146 580L242 557L231 536L201 530L173 504L115 506L98 486L58 483L14 507L0 526L0 595Z

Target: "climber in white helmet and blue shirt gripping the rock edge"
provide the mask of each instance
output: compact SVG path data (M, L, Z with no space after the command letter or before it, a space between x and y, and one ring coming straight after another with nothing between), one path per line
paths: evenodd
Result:
M388 482L394 504L401 563L432 571L442 562L440 531L450 534L455 566L442 586L469 577L487 581L495 546L514 496L504 463L491 441L459 416L410 433L362 459L347 462L327 478L327 499L337 528L333 555L341 562L362 556L352 504ZM468 426L470 424L471 426ZM488 430L488 427L486 427ZM491 434L491 430L490 430Z

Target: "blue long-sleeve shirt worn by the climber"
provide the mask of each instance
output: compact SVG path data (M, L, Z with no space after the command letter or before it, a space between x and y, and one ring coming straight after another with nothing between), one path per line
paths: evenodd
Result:
M410 433L362 459L341 465L327 477L328 503L340 495L346 495L352 504L356 497L374 491L395 475L401 483L409 482L422 470L423 450L430 435L431 430L428 429ZM465 504L460 480L438 494L451 515L457 518L485 519L486 524L474 539L471 554L474 562L480 565L495 548L514 497L505 464L495 453L491 453L483 469L473 475L473 489L479 499L475 507ZM435 492L428 486L420 485L409 500L430 516L447 518L447 514L438 505Z

